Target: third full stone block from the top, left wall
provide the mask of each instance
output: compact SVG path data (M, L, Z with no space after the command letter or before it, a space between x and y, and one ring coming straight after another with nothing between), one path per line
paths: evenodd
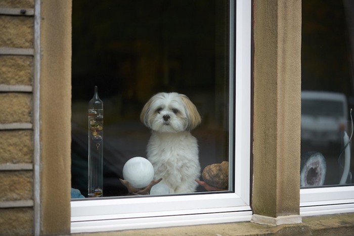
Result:
M30 123L32 93L0 93L0 123Z

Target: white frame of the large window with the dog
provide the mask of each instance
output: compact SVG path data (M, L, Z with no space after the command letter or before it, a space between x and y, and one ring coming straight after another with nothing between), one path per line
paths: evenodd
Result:
M236 4L236 8L235 8ZM233 10L235 9L235 11ZM171 196L135 196L71 201L71 232L182 226L249 221L250 107L251 107L251 1L230 1L230 79L235 101L235 191ZM235 25L236 24L236 25ZM234 36L235 35L235 36ZM234 48L236 46L236 49ZM235 52L236 51L236 55ZM232 114L233 115L233 114Z

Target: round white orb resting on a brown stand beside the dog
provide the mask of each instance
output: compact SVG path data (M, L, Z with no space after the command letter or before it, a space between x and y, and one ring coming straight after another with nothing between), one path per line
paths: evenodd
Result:
M146 187L154 179L154 167L144 157L132 157L123 166L123 178L135 188Z

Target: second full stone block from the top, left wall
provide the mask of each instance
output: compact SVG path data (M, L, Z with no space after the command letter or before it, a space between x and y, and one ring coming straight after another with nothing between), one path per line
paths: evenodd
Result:
M31 85L32 56L0 56L0 84Z

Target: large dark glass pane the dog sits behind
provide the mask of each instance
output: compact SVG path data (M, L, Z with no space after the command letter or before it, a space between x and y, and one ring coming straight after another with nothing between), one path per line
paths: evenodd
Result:
M233 95L229 92L228 1L73 1L72 14L71 174L77 194L72 197L88 195L88 139L98 136L103 138L102 145L93 145L97 150L103 147L103 197L137 193L129 192L119 180L124 179L124 164L133 157L148 158L170 193L233 191L228 178L229 174L233 176L228 167L233 156L233 150L229 150ZM87 117L95 86L104 104L102 123L95 120L96 116ZM171 101L152 100L145 108L153 112L147 117L143 112L144 125L141 112L158 92L186 95L200 114L201 123L193 128L198 116L192 112L193 105L178 95ZM153 119L160 119L168 128L153 128ZM178 122L183 132L169 130ZM152 148L147 145L154 135L151 129L156 129L155 134L168 131L167 135L155 136L164 141L171 138L169 145L151 141L160 151L170 150L165 159L157 155L158 160L153 161L154 154L148 155L147 149ZM198 146L188 136L189 129ZM193 153L198 148L199 155ZM186 158L188 153L193 155ZM146 169L138 170L136 167L128 173L139 178ZM194 173L208 185L202 186L192 177L186 179ZM144 179L149 179L146 176ZM178 186L172 186L176 182ZM187 182L190 186L183 189Z

